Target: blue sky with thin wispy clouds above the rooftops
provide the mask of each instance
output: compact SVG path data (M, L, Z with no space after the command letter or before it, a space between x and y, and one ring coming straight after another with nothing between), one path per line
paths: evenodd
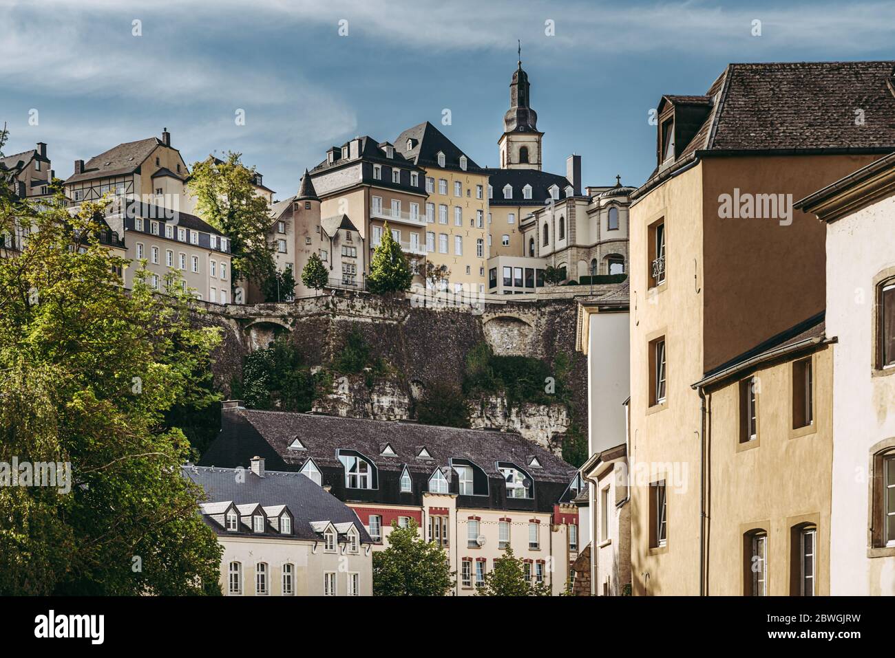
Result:
M543 168L577 153L585 185L639 185L662 94L731 62L895 59L893 37L875 0L0 0L0 122L6 155L47 142L61 178L167 128L188 165L242 153L275 198L327 148L423 121L493 167L519 39Z

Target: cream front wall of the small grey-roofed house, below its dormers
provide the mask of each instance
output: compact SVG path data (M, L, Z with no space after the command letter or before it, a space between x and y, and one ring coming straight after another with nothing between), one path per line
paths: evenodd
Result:
M347 544L339 543L332 551L325 551L323 542L301 539L267 537L220 536L224 547L221 556L221 591L225 595L258 595L256 584L258 564L266 565L268 596L282 596L283 567L293 565L294 595L324 595L324 578L335 578L334 596L371 596L373 594L372 557L369 545L362 545L357 553L347 551ZM229 591L231 564L240 565L241 591ZM357 578L357 593L349 591L349 580ZM354 586L354 585L353 585Z

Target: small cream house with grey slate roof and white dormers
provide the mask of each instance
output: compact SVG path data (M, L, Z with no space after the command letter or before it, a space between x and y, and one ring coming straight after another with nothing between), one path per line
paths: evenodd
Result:
M352 510L299 473L187 464L209 502L202 519L224 548L226 596L370 596L370 536Z

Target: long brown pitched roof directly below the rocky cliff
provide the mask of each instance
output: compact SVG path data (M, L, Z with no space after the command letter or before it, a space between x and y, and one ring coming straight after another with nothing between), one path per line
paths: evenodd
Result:
M256 409L238 409L228 414L238 415L250 423L269 447L296 469L309 457L319 467L341 468L337 451L354 450L377 468L397 473L405 466L413 472L431 473L435 466L446 467L451 459L464 459L475 462L489 477L502 477L497 469L499 461L529 470L535 481L567 484L575 476L575 467L511 432ZM306 451L289 450L295 437L301 438ZM396 456L381 455L383 443L391 445ZM417 459L422 447L429 452L431 460ZM202 455L200 463L240 464L251 450L254 448L242 439L216 441ZM528 468L527 458L532 456L538 458L541 468Z

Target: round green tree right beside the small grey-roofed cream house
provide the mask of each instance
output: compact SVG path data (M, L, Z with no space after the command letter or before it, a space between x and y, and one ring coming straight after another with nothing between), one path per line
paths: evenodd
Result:
M447 553L434 542L423 540L416 521L392 529L385 551L373 553L374 596L444 596L456 583Z

